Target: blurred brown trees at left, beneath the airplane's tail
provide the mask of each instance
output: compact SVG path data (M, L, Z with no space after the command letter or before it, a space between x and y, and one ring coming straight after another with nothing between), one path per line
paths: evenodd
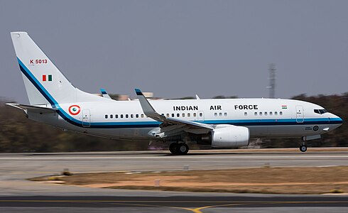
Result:
M26 119L20 109L0 100L0 152L74 152L146 150L148 141L116 141L62 131Z

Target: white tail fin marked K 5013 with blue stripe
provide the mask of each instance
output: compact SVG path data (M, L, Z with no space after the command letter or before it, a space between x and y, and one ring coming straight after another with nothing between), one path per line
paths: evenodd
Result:
M28 33L12 32L11 38L31 105L105 101L74 87Z

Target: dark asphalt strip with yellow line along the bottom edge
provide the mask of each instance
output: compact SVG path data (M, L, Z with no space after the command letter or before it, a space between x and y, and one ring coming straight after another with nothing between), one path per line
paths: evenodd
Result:
M4 197L0 208L6 211L69 208L69 212L250 212L264 210L323 208L330 212L347 212L348 197Z

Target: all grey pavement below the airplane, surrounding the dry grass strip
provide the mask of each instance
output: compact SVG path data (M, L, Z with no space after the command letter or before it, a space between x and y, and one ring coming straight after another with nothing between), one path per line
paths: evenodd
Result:
M308 153L166 151L0 154L0 209L4 212L348 212L347 195L257 195L112 190L31 182L26 178L112 171L348 165L348 149ZM310 175L310 174L308 174ZM348 174L347 174L348 176ZM40 196L40 197L38 197ZM3 211L1 211L3 212Z

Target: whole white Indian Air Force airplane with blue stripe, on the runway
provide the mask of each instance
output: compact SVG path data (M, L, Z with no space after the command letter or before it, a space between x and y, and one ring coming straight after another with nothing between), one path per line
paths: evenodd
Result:
M317 139L341 126L339 116L310 102L293 99L138 99L116 101L73 86L26 32L12 32L30 104L8 103L28 119L63 130L112 139L169 143L185 155L187 143L214 148L248 146L250 138ZM107 94L104 89L102 93Z

